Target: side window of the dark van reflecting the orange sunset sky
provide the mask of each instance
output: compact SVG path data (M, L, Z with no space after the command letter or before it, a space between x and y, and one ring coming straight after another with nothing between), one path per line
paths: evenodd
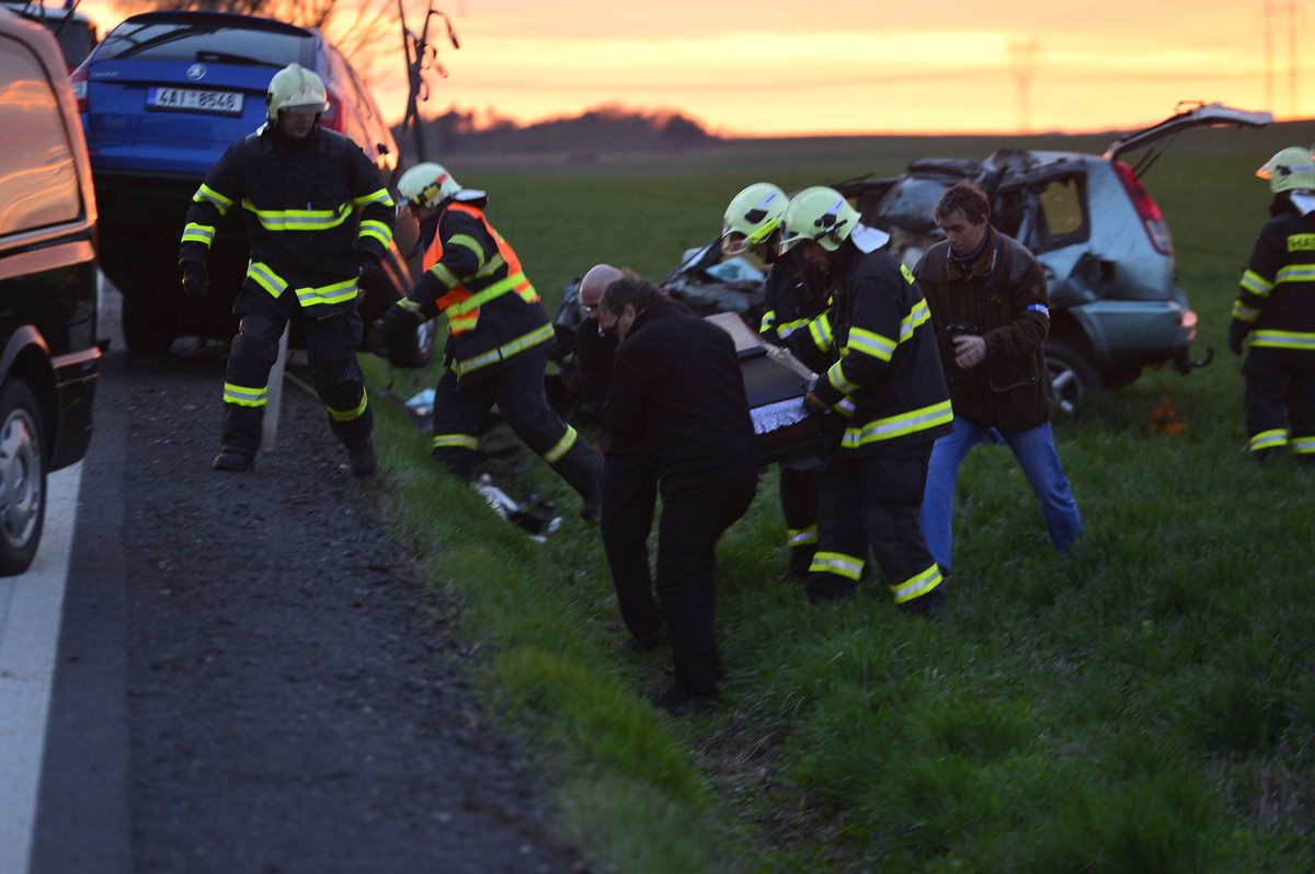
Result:
M76 221L78 170L54 87L9 37L0 37L0 237Z

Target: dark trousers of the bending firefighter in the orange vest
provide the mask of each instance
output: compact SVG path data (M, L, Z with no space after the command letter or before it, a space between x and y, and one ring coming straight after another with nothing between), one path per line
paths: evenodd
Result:
M434 389L434 457L462 480L475 474L479 436L497 405L508 427L586 502L597 501L602 457L548 405L543 372L548 344L540 343L477 373L456 379L443 371Z

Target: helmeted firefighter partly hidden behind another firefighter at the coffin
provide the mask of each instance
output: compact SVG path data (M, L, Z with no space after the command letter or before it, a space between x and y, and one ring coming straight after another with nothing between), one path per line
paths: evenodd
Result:
M751 254L768 265L764 293L767 311L759 333L764 340L784 346L813 371L825 371L831 355L831 323L819 271L798 250L777 252L781 216L789 198L771 183L753 183L726 206L722 255ZM786 528L784 577L802 582L818 545L818 484L821 460L806 455L781 461L781 517Z

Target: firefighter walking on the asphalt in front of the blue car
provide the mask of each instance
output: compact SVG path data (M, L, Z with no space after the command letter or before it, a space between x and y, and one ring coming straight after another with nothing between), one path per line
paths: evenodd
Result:
M393 238L393 200L379 171L346 137L320 127L325 84L288 64L266 95L268 121L231 145L192 196L179 248L183 289L209 293L214 230L234 206L246 219L251 262L233 304L238 335L224 382L222 448L216 471L246 471L260 448L270 368L293 314L305 329L316 392L352 473L375 472L372 417L356 363L358 287Z

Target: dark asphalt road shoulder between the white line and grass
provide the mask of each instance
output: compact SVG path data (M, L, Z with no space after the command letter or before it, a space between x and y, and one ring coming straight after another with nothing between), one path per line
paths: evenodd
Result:
M275 449L213 472L222 380L214 350L105 359L30 874L586 870L381 530L385 484L291 389Z

